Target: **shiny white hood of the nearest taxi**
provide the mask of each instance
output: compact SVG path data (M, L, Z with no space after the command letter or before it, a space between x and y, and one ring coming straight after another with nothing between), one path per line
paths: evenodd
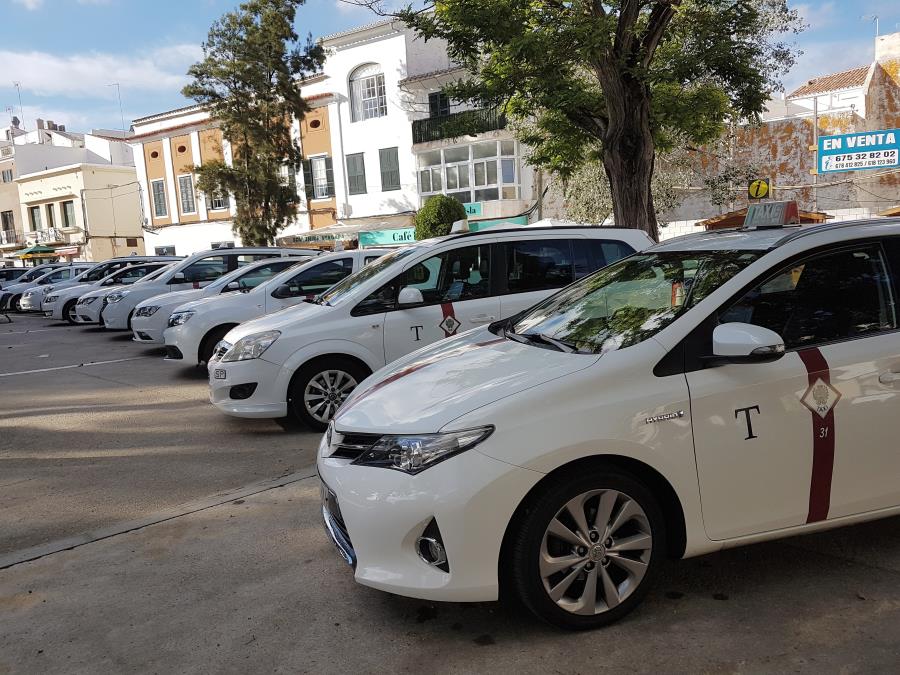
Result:
M335 427L345 432L432 433L472 410L583 370L598 358L477 329L379 370L341 407Z

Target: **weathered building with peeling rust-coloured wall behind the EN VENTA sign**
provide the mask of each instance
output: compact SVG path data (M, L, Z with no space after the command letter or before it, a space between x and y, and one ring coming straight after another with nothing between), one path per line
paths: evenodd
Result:
M726 164L754 167L757 178L770 182L768 199L796 200L801 210L823 213L831 222L877 217L900 205L900 170L818 175L816 140L898 127L900 33L893 33L876 38L872 63L813 78L770 102L761 124L735 130L728 158L699 152L697 173L714 176ZM701 182L691 187L675 212L662 214L660 238L697 232L705 220L752 201L746 184L735 184L722 204L710 201Z

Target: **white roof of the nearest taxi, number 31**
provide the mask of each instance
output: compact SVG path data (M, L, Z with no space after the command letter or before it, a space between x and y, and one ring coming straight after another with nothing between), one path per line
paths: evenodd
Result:
M785 225L760 229L722 229L707 230L697 234L686 234L681 237L667 239L649 249L647 252L662 253L666 251L771 251L784 246L788 242L806 237L840 230L851 231L863 225L875 225L884 228L885 234L900 234L900 218L870 218L866 220L845 220L838 223L821 223L815 225Z

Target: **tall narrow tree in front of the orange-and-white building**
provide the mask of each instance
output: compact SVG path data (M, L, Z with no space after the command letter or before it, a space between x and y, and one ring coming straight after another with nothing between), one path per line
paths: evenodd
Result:
M246 244L265 245L296 213L293 176L302 161L291 123L308 110L300 94L305 75L324 61L321 46L294 30L304 0L247 0L213 23L203 60L188 70L182 93L206 106L232 144L232 164L196 167L198 188L235 196L234 231Z

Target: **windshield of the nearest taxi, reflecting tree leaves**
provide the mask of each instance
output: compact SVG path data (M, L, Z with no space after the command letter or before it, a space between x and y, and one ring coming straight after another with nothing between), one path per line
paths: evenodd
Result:
M561 351L604 354L646 340L747 265L760 251L633 255L538 304L499 330Z

